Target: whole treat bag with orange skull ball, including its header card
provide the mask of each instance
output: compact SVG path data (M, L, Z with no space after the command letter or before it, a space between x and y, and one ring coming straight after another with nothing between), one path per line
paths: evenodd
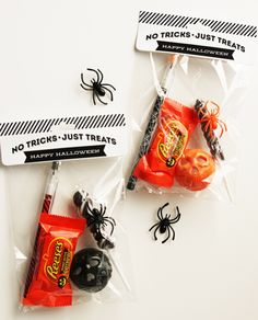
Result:
M129 191L233 201L256 37L254 25L140 12Z

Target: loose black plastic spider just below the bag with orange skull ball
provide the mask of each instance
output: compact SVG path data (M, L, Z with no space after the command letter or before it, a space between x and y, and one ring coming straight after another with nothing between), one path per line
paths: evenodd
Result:
M153 228L155 228L155 230L154 230L154 239L155 240L157 240L157 238L156 238L156 231L157 230L161 233L165 233L167 231L167 237L166 237L165 240L162 241L162 243L165 243L168 240L168 238L171 237L171 230L173 232L172 240L175 239L175 230L172 228L172 225L176 224L180 219L180 213L179 213L178 206L176 206L177 216L175 218L171 219L171 215L165 215L165 217L163 217L162 210L168 205L169 204L166 203L166 204L164 204L163 207L159 208L157 218L159 218L160 221L156 222L154 226L152 226L151 229L149 230L149 231L151 231Z

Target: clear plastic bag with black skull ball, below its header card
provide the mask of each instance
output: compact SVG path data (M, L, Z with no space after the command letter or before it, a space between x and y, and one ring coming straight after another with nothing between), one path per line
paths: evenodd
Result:
M127 237L119 224L125 197L121 158L63 161L58 168L51 163L9 167L5 168L5 178L22 310L132 297ZM23 182L24 187L17 181ZM91 206L87 216L75 202L79 192L86 195L84 204ZM50 207L46 208L49 205L46 195L49 194L52 199ZM99 217L105 219L99 220ZM87 227L83 228L86 220ZM98 237L112 239L114 248L101 245L94 231ZM57 239L66 241L58 242ZM79 284L77 277L71 279L72 267L79 275L75 256L79 256L79 266L81 261L90 274L84 276L84 286L80 286L83 279L79 279ZM85 256L93 262L85 262ZM61 271L59 264L62 264ZM32 271L33 276L27 283ZM48 271L50 277L55 277L54 282L48 281ZM30 298L26 300L27 292Z

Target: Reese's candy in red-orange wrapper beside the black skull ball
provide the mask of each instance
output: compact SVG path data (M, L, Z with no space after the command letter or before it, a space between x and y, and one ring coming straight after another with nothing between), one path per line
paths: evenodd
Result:
M40 215L35 268L24 292L24 306L61 307L72 304L69 273L84 227L85 219Z

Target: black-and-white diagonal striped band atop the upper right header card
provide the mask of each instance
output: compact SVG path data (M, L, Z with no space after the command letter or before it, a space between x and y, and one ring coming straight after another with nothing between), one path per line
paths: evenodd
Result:
M174 27L187 27L189 24L201 23L209 26L212 32L230 33L241 36L257 37L257 26L230 23L216 20L190 18L184 15L163 14L148 11L140 11L140 23L157 24Z

